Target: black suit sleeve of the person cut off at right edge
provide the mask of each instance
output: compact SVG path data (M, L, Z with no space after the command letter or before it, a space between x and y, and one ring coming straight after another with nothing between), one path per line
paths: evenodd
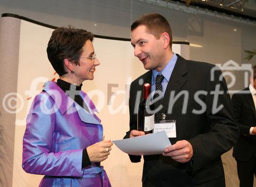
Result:
M233 94L232 96L232 105L233 105L233 111L234 111L234 117L240 127L241 134L243 136L250 136L250 126L248 125L243 125L240 122L240 117L241 113L243 110L243 104L244 102L242 101L242 94Z

